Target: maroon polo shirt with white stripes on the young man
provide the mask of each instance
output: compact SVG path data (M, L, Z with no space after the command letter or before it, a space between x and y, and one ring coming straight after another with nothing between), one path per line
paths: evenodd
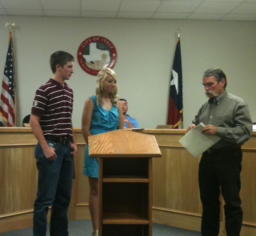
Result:
M39 123L44 135L72 138L71 115L73 90L53 79L37 91L31 114L41 116Z

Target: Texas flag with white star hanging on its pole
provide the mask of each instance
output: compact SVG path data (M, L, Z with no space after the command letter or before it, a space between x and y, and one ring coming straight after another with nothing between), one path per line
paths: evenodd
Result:
M167 125L173 125L173 129L178 129L180 115L182 112L182 67L179 38L177 41L172 66Z

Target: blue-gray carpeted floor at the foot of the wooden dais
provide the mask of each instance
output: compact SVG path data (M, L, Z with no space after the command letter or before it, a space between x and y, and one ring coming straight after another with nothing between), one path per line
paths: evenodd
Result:
M91 220L69 220L68 221L69 236L91 236L92 223ZM33 235L33 227L0 233L0 236L30 236ZM47 236L49 233L49 224L47 224ZM153 223L153 236L199 236L200 232L180 229L164 224ZM119 235L113 235L119 236ZM132 236L132 235L131 235Z

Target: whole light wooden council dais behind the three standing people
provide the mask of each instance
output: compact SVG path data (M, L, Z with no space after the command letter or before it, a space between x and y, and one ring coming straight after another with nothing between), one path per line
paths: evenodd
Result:
M74 131L78 153L74 158L76 178L68 217L90 219L89 184L83 176L85 142L81 129ZM179 143L186 130L136 132L154 135L162 153L162 158L153 158L153 222L200 231L202 205L197 173L200 157L193 157ZM36 143L30 128L0 128L0 233L32 226L37 190ZM256 235L256 132L242 149L241 236L250 236ZM220 200L223 207L225 203L221 197ZM225 235L223 209L220 218L220 235Z

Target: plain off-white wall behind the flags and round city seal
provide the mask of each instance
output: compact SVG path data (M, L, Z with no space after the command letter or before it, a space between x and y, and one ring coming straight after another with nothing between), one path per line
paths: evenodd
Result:
M68 51L76 58L75 73L67 82L74 91L73 126L81 127L84 101L94 95L96 76L77 62L77 50L88 37L108 38L116 47L120 98L128 101L128 114L141 128L166 124L170 74L180 29L183 73L184 128L207 100L202 73L220 67L227 75L227 90L255 111L255 21L141 20L69 17L1 16L0 78L8 46L6 21L12 20L17 98L17 126L30 114L36 89L52 72L50 55ZM253 105L254 104L254 105Z

